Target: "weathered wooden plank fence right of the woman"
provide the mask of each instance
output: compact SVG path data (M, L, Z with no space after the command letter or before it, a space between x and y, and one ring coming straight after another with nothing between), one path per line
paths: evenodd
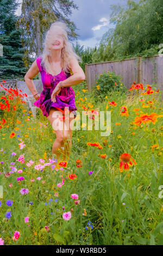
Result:
M142 83L143 86L157 84L160 90L163 89L163 56L154 55L144 60L138 57L85 64L85 80L88 90L96 84L96 79L103 74L103 71L114 71L116 75L122 76L122 81L127 88L130 88L135 81Z

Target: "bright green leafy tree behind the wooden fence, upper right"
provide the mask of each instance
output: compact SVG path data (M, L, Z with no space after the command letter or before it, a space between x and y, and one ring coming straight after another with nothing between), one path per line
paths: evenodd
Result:
M140 53L163 40L162 0L128 1L127 8L112 6L111 22L116 25L112 44L115 58Z

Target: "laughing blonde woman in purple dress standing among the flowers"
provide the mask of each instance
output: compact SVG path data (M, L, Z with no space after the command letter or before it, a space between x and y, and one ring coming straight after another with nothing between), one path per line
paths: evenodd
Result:
M71 42L68 41L67 31L68 28L63 22L57 21L51 25L46 34L42 56L33 62L24 76L24 80L36 100L34 105L40 107L42 114L47 117L55 130L57 138L53 143L52 154L55 154L58 160L64 161L68 160L70 155L72 123L77 115L75 94L71 86L85 80L84 71L78 64L80 57L74 52ZM32 80L39 71L43 84L40 95ZM69 113L67 111L66 114L68 122L65 118L65 110L69 110Z

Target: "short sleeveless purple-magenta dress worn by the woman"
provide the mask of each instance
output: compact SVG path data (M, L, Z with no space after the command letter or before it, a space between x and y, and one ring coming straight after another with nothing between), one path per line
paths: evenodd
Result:
M40 99L34 102L36 107L39 107L42 111L42 114L48 117L49 111L51 107L54 107L64 113L65 107L69 107L69 111L73 112L74 118L76 118L77 107L75 103L75 94L72 87L64 87L61 88L58 95L55 95L56 102L52 102L51 95L54 88L60 81L66 80L71 76L70 72L66 74L62 68L60 74L53 76L51 74L47 74L46 70L41 65L42 57L38 57L36 59L37 66L39 68L41 74L41 80L43 84L43 90L40 94Z

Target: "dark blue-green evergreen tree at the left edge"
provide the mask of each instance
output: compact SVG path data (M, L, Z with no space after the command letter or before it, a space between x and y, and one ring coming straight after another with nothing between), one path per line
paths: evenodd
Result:
M0 57L0 80L22 79L26 68L22 60L24 50L21 42L21 31L16 28L18 8L16 0L0 2L0 44L3 45L3 56Z

